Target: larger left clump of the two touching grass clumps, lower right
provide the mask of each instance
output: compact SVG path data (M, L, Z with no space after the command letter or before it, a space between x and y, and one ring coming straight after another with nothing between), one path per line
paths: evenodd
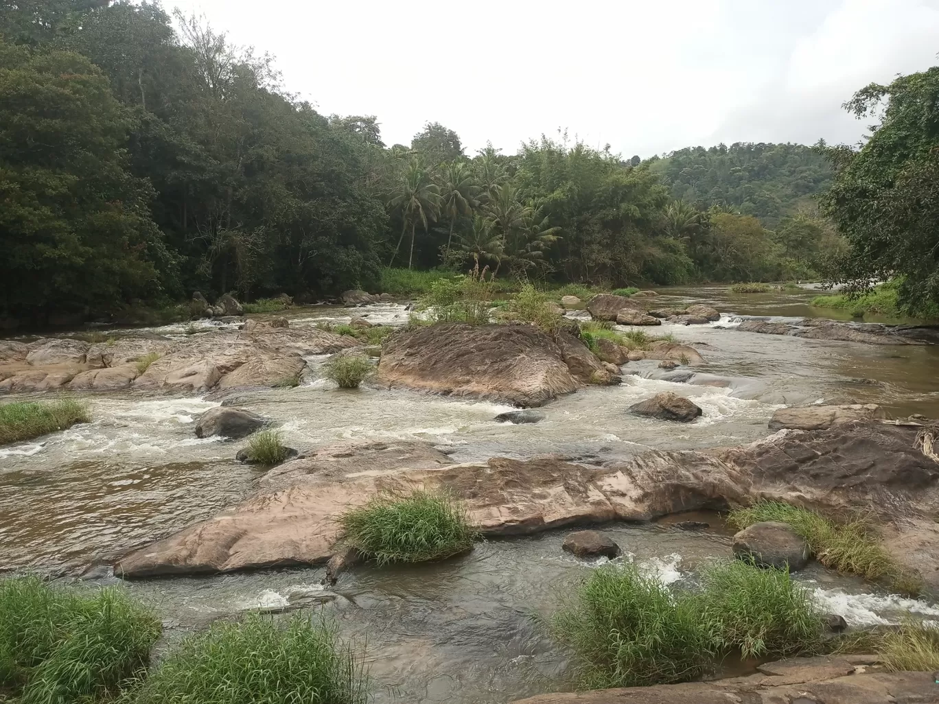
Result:
M550 628L574 651L584 689L687 681L714 666L711 626L698 603L631 564L593 570Z

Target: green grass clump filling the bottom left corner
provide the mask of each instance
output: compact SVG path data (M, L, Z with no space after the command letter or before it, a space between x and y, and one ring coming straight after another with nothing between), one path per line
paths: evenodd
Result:
M123 589L0 582L0 687L22 704L117 693L146 666L161 625Z

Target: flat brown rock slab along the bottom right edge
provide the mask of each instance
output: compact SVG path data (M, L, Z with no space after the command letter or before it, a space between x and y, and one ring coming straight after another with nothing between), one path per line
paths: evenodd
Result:
M886 672L870 655L792 658L728 680L519 699L515 704L899 704L934 702L931 672Z

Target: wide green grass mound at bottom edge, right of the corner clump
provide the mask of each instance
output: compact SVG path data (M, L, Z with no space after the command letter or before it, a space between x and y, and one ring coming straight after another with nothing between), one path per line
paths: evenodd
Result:
M136 704L365 704L362 665L324 622L259 614L186 638L141 685Z

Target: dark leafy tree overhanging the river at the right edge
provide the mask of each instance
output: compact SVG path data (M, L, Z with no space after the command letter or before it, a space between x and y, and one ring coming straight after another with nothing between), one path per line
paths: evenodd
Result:
M818 147L835 170L822 211L851 245L834 278L859 292L899 276L908 310L939 302L939 67L870 84L845 108L880 124L860 149Z

